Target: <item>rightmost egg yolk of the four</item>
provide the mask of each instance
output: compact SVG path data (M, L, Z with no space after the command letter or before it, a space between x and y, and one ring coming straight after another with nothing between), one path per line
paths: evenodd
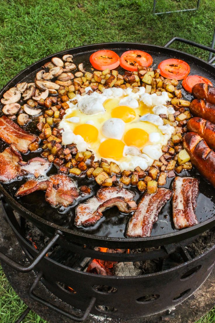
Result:
M140 128L128 130L124 135L124 142L127 146L142 148L148 141L148 133Z

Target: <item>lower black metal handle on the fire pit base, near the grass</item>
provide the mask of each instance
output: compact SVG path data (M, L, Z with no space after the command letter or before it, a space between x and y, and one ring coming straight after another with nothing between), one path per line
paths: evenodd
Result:
M42 278L42 276L43 276L43 273L42 273L42 272L40 272L40 273L36 276L36 278L35 278L35 280L34 280L34 282L33 282L32 286L31 286L31 287L30 287L30 289L29 289L29 296L30 296L32 299L34 299L36 302L38 302L38 303L40 303L40 304L42 304L42 305L44 305L44 306L47 306L48 308L53 309L54 311L58 312L59 314L62 314L62 315L64 315L64 316L66 316L67 318L71 318L72 320L74 320L74 321L76 321L76 322L83 322L83 321L88 317L88 315L90 314L90 311L92 310L93 305L95 304L96 298L95 298L95 297L92 297L92 298L91 298L90 303L89 303L89 305L87 306L87 308L86 308L86 310L85 310L85 312L83 313L83 315L82 315L82 316L80 316L80 317L79 317L79 316L76 316L76 315L70 314L70 313L68 313L68 312L66 312L66 311L64 311L64 310L62 310L62 309L60 309L60 308L58 308L58 307L54 306L53 304L49 303L48 301L45 301L43 298L36 296L36 295L33 293L33 292L34 292L34 289L35 289L35 288L36 288L36 286L38 285L38 283L39 283L40 279Z

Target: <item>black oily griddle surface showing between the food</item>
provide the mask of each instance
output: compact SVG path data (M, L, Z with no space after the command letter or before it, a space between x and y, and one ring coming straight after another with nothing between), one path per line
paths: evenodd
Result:
M121 49L119 49L121 47ZM91 50L88 50L88 49ZM127 51L129 49L141 49L147 51L151 56L153 57L153 65L152 68L156 68L157 65L164 59L167 58L180 58L185 60L191 67L190 75L201 75L203 77L206 77L210 79L210 81L215 85L215 67L211 66L210 64L207 64L206 62L196 58L192 57L191 55L177 52L176 50L172 50L169 48L164 47L156 47L152 45L141 45L141 44L101 44L101 45L92 45L85 46L85 47L79 47L74 48L65 52L62 52L60 54L55 54L58 57L62 57L64 54L71 53L73 54L73 61L76 65L83 62L84 68L88 71L91 70L91 65L89 63L89 57L95 50L103 49L103 48L109 48L114 50L118 55L121 55L124 51ZM52 55L55 56L55 55ZM42 60L40 63L34 64L32 67L28 68L26 71L20 73L12 82L5 87L5 89L2 90L0 93L1 95L5 92L5 90L11 88L15 84L19 82L30 82L33 81L35 78L36 73L41 70L41 66L44 65L45 62L48 62L51 58L46 58ZM75 72L75 71L74 71ZM123 70L119 68L119 72L123 73ZM181 81L179 88L181 88ZM182 88L181 88L182 89ZM184 99L191 100L193 99L191 94L185 92L182 89L182 94L184 96ZM2 104L0 104L0 108L2 108ZM36 119L36 118L35 118ZM35 120L34 119L34 120ZM37 133L37 130L35 128L35 121L32 121L29 123L26 127L26 130L31 131L32 133ZM1 143L0 148L3 150L6 147L5 144ZM40 152L38 152L39 154ZM28 160L32 157L35 157L35 153L29 153L28 155L24 155L23 159ZM53 166L49 174L56 172L56 168ZM207 182L204 181L204 179L196 172L195 169L193 169L191 172L185 172L183 171L179 176L192 176L196 177L200 180L200 193L197 200L197 208L196 208L196 214L198 221L201 224L208 224L208 222L211 223L211 221L207 221L210 218L212 218L215 214L215 195L214 195L214 188ZM74 179L77 179L76 177L73 177ZM172 178L168 179L167 184L165 187L171 187ZM18 181L12 182L10 184L5 184L3 187L5 190L14 197L15 192L17 191L18 187L24 182L24 179L20 179ZM87 178L78 178L77 180L78 186L80 185L89 185L92 188L92 196L94 192L99 188L99 186L96 184L93 180L87 179ZM140 197L140 194L138 190L135 187L127 187L128 189L134 190L136 192L135 200L138 202L138 199ZM32 213L38 215L44 220L47 220L51 223L54 223L59 226L63 226L64 228L72 229L77 232L97 235L97 236L103 236L103 237L113 237L113 238L124 238L123 240L128 240L125 238L125 231L126 231L126 225L131 217L131 214L122 214L119 213L118 209L112 208L110 210L106 210L103 213L103 218L98 221L94 226L90 226L88 228L83 227L76 227L74 225L74 208L75 205L82 202L83 200L86 200L90 197L89 195L84 198L79 198L75 204L73 204L72 207L67 208L66 210L64 208L53 208L48 203L45 202L44 199L44 192L34 192L30 195L24 196L22 198L15 198L18 203L23 205L26 209L31 211ZM32 214L31 214L32 216ZM167 238L170 236L173 236L174 233L178 232L178 230L175 230L172 224L171 220L171 201L167 202L164 208L162 209L159 219L157 223L153 226L152 230L152 237L159 238L161 235L165 235ZM215 218L214 218L215 221ZM213 222L214 222L213 221ZM50 225L49 223L46 223ZM195 226L197 228L197 226ZM190 229L184 229L180 231L180 234L183 234L183 232L193 232L190 233L190 235L194 234L194 228ZM198 228L201 228L202 225L198 225ZM201 229L203 231L203 229ZM71 232L71 231L70 231ZM171 235L169 235L171 234ZM196 231L195 231L196 234ZM165 236L162 236L161 238L165 238ZM91 236L92 238L92 236ZM96 237L97 238L97 237ZM145 238L144 240L149 240L150 238ZM141 239L137 239L141 241Z

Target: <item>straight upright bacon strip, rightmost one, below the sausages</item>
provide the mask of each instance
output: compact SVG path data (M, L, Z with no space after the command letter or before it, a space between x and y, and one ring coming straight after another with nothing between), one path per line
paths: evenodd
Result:
M173 222L176 229L183 229L198 223L196 218L196 199L199 194L199 181L192 177L174 179L172 189Z

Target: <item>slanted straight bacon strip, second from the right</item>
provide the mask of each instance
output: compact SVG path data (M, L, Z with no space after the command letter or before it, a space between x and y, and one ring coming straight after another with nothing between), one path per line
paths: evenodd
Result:
M129 221L128 237L150 237L152 226L158 220L158 214L173 192L160 187L154 194L145 193Z

